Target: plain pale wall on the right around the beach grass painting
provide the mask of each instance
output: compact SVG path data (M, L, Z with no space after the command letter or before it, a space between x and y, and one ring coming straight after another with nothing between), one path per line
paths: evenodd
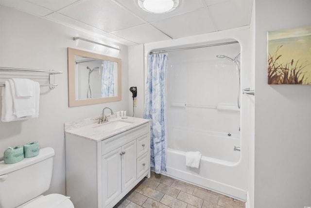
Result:
M255 8L255 208L311 206L311 86L267 84L267 31L310 26L311 1Z

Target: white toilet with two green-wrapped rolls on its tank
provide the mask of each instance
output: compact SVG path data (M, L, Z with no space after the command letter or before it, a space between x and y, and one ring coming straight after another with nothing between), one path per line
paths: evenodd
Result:
M74 208L67 196L42 195L50 188L53 156L47 147L15 164L0 161L0 208Z

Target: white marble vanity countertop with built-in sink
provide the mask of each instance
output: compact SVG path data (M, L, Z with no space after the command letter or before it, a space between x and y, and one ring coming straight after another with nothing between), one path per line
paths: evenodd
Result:
M124 118L110 117L108 118L109 121L107 123L98 124L97 123L98 118L99 116L67 122L64 125L65 133L69 133L72 135L83 137L88 140L98 142L107 139L111 136L117 135L121 132L125 132L127 130L138 127L142 124L148 123L150 121L148 119L126 116ZM120 124L121 121L125 125L123 127L121 126L116 130L113 129L108 130L107 128L104 127L105 125L111 125L112 123L117 124L118 121L119 121L118 124Z

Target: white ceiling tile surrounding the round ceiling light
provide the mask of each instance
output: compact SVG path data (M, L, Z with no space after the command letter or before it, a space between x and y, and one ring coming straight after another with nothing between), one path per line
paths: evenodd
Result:
M173 10L172 12L165 14L153 14L138 8L137 4L135 3L137 0L114 0L114 1L119 2L121 5L128 8L134 14L146 20L147 22L173 17L176 15L191 12L205 7L202 0L182 0L181 4L177 7L177 9Z

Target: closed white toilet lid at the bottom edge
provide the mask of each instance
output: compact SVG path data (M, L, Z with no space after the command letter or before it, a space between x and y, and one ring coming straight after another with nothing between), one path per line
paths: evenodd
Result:
M74 208L69 197L52 193L38 197L20 208Z

